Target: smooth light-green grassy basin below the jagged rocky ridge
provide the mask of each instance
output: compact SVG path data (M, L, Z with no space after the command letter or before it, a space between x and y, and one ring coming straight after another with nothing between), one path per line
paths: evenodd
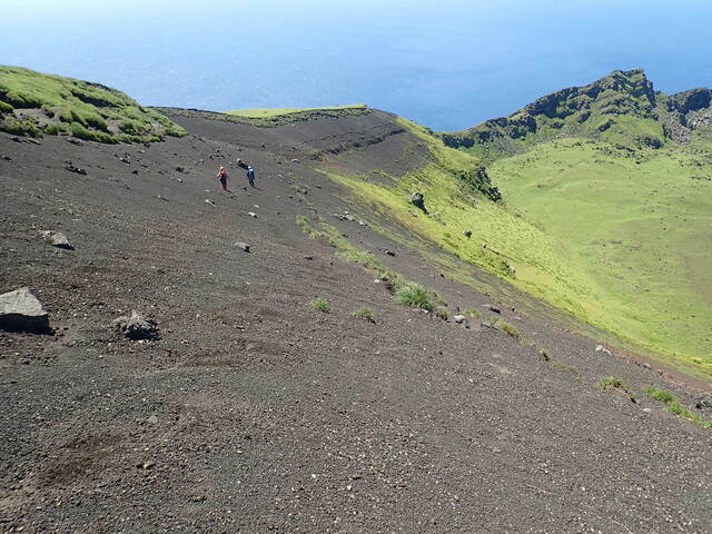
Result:
M565 139L490 172L525 220L573 250L602 303L597 324L712 374L712 158Z

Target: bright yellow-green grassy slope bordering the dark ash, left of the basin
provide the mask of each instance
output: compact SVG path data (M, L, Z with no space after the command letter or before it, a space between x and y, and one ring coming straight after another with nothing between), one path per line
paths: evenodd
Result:
M364 214L378 214L411 235L393 235L370 218L372 226L428 255L432 243L462 259L508 278L515 285L558 307L601 324L602 304L571 250L501 204L468 189L458 176L477 168L479 160L444 147L426 129L402 119L431 150L431 162L403 177L383 171L353 175L325 167L324 172L353 191L353 200L364 206ZM409 202L413 191L422 191L428 214ZM463 235L471 230L472 237ZM483 246L486 244L486 247Z

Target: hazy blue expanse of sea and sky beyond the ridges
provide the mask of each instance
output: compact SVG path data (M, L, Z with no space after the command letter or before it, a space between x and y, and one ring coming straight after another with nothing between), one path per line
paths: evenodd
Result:
M366 102L438 130L614 69L712 86L712 2L2 0L0 63L211 110ZM11 23L9 22L11 21Z

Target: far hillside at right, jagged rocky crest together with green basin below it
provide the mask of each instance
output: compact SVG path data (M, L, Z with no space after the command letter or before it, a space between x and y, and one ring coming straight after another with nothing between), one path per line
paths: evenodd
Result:
M712 373L709 89L668 96L615 71L442 138L483 157L512 211L566 247L595 323Z

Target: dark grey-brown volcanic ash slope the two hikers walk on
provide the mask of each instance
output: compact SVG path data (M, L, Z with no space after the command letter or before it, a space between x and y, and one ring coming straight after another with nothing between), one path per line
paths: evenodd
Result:
M0 137L0 291L29 286L56 329L0 337L3 532L712 530L709 431L595 384L654 383L686 403L692 389L544 312L502 309L548 360L478 322L398 306L294 224L348 209L310 157L427 158L390 116L268 129L171 118L192 135L149 147ZM228 166L233 192L218 191L217 166L238 157L258 188ZM451 307L496 316L493 296L336 224ZM44 229L76 249L52 248ZM308 306L317 296L332 313ZM350 315L363 306L375 324ZM112 332L131 309L160 339Z

